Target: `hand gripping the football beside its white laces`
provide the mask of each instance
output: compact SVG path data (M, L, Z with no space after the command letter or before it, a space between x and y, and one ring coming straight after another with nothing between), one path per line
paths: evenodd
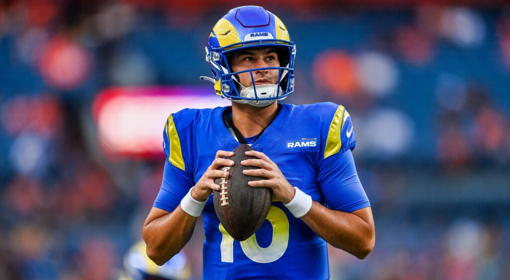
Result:
M232 166L234 161L223 157L231 157L234 152L218 151L216 152L216 158L213 163L209 165L206 172L203 173L202 177L196 183L195 187L191 191L191 197L197 201L206 201L213 190L219 190L220 186L214 183L215 178L228 177L228 172L218 170L221 165Z

